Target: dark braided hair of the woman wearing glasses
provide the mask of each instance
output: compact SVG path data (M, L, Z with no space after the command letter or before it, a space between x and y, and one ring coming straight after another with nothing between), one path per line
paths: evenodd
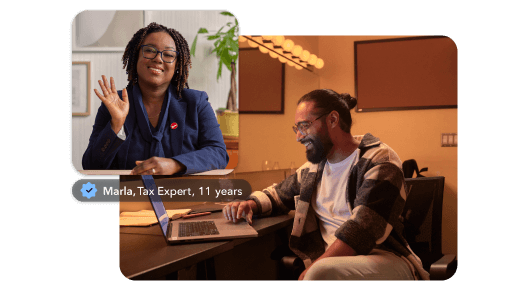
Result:
M123 53L123 68L126 69L128 74L127 80L129 84L127 87L134 86L138 82L138 71L136 70L136 64L138 63L138 57L140 55L140 46L142 45L145 37L153 32L167 32L175 41L176 50L178 52L177 63L175 65L175 73L171 82L177 87L178 94L186 86L188 86L188 76L191 69L191 57L188 42L182 35L173 28L165 27L164 25L152 22L140 30L138 30L132 39L127 44L125 52Z

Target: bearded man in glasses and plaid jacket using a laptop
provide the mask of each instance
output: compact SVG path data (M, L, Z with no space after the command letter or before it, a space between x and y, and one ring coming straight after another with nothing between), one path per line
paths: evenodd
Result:
M296 210L289 247L305 264L299 280L428 280L402 236L407 192L401 160L367 133L352 136L349 94L315 90L298 101L297 141L308 162L279 184L228 204L226 219Z

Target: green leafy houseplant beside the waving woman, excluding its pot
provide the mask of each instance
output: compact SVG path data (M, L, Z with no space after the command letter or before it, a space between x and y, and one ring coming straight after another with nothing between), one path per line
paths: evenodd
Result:
M223 25L219 30L217 30L216 33L207 35L207 39L210 41L214 41L213 45L214 48L210 50L209 54L213 54L214 52L217 55L217 58L219 59L219 68L217 70L217 81L219 81L219 77L221 77L222 67L225 65L229 71L231 71L231 79L230 79L230 91L228 93L228 101L226 103L226 109L231 111L236 111L236 61L239 57L239 43L238 43L238 37L239 37L239 23L237 22L237 19L235 16L227 11L221 12L222 15L226 15L229 17L233 17L233 22L228 22L225 25ZM223 30L227 28L228 30L224 32ZM208 34L208 30L206 28L200 28L197 32L197 35L195 36L195 39L193 39L193 43L191 45L190 53L192 56L195 56L195 49L197 46L197 38L199 37L199 34Z

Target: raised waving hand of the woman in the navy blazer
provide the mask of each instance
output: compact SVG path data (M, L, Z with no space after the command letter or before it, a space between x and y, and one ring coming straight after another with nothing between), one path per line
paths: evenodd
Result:
M122 97L123 100L120 99L118 95L118 91L116 91L116 86L114 85L114 79L110 77L110 86L109 82L107 81L107 78L105 76L101 76L103 78L103 82L98 80L99 86L101 87L101 91L103 92L103 95L101 95L97 89L94 89L94 92L98 96L98 98L105 104L107 107L107 110L109 110L109 113L112 117L112 120L110 121L112 130L118 134L121 127L125 123L125 118L127 117L127 114L129 113L129 96L127 95L127 89L123 89L122 91Z

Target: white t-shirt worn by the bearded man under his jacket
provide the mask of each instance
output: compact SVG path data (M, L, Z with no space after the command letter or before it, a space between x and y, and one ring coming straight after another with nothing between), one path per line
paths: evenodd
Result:
M337 239L335 231L351 216L346 185L350 168L359 159L358 151L356 149L341 162L326 162L317 193L311 200L311 206L319 218L320 233L327 244L326 250Z

